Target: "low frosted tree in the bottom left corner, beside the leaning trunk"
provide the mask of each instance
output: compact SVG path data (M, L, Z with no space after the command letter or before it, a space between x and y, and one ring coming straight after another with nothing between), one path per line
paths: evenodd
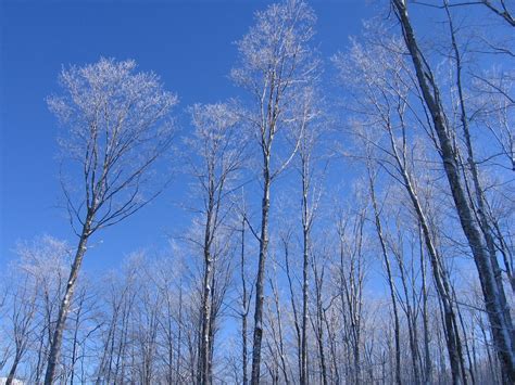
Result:
M30 242L21 242L16 246L17 259L9 268L5 284L9 286L4 299L5 341L12 342L12 351L7 357L11 362L7 383L14 383L18 369L24 380L37 378L33 372L39 373L39 358L45 355L48 344L45 336L51 328L55 312L47 317L48 298L58 297L62 292L63 275L68 269L68 246L65 242L51 236L38 236ZM9 321L8 321L9 320ZM37 352L36 357L33 356ZM36 362L34 362L36 358ZM36 363L36 364L34 364ZM27 368L36 367L27 370Z

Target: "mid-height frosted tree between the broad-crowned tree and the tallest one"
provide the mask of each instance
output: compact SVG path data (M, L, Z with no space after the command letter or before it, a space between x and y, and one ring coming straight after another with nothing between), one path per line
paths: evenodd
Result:
M200 158L200 164L192 163L192 168L201 190L201 221L204 228L203 240L196 242L203 254L202 325L197 382L211 384L211 325L214 322L212 285L216 268L213 265L222 257L224 244L228 242L227 236L221 236L221 231L224 230L222 226L227 221L231 208L227 204L227 194L234 189L235 178L242 166L244 136L241 126L238 126L237 113L227 104L196 104L191 108L191 118L196 131L190 144Z

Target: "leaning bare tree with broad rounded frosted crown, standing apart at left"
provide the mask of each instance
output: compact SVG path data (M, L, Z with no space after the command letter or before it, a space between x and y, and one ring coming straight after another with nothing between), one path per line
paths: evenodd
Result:
M165 119L177 98L163 91L156 75L135 69L134 61L106 59L63 69L64 93L48 99L50 110L67 128L60 144L71 164L78 166L74 175L81 175L81 192L75 198L63 180L79 241L55 323L46 384L55 377L65 322L91 234L133 215L159 193L148 195L145 190L152 166L171 145L172 129Z

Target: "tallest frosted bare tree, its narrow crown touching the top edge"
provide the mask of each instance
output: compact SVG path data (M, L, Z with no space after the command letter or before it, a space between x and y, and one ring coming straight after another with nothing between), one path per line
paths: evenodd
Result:
M271 184L293 158L298 143L286 159L277 159L273 147L276 136L288 127L290 95L316 75L310 42L315 15L300 0L286 0L256 13L256 23L238 42L240 65L233 69L235 81L254 98L249 119L262 155L262 210L258 280L255 283L254 337L252 351L252 384L260 381L261 345L263 338L263 304ZM300 137L300 136L299 136Z

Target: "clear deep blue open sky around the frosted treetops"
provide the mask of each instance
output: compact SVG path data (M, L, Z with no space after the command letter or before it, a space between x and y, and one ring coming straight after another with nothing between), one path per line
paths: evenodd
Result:
M4 1L0 0L0 269L18 240L50 234L75 243L59 187L56 124L45 98L58 91L61 66L108 57L135 59L158 73L180 105L216 102L240 92L227 78L234 41L247 33L255 10L271 1ZM374 9L362 0L311 1L325 59L348 43ZM180 129L188 119L179 118ZM180 183L180 181L177 181ZM131 251L166 244L184 229L172 187L151 206L93 240L86 265L115 266ZM98 241L104 240L101 244Z

